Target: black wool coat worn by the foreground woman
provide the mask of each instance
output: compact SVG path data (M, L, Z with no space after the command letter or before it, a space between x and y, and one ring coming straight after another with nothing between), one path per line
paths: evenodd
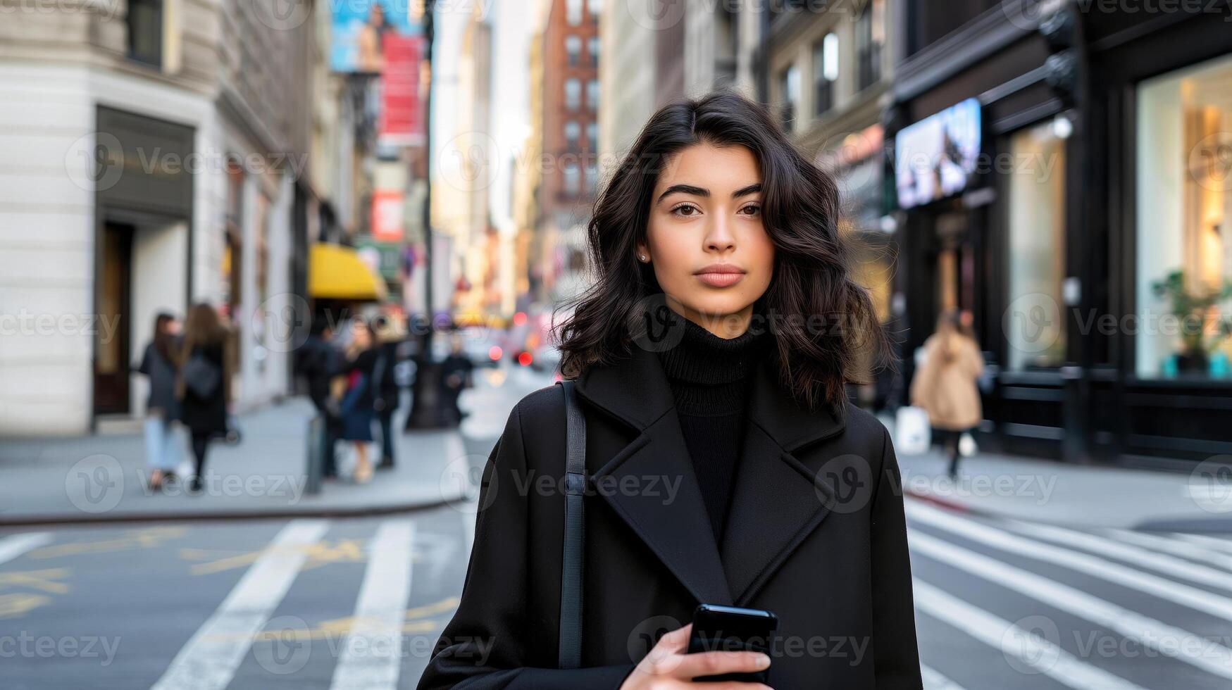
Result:
M920 689L901 476L869 413L808 412L750 382L727 527L711 532L654 352L577 382L586 420L583 653L557 668L565 410L524 397L483 472L461 603L420 689L617 689L699 603L779 616L770 686Z

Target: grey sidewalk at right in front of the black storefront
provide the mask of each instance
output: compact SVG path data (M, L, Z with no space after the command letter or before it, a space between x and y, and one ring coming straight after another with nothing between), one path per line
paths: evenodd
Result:
M967 513L1083 527L1232 532L1232 484L1193 474L981 452L958 481L936 450L899 456L904 495Z

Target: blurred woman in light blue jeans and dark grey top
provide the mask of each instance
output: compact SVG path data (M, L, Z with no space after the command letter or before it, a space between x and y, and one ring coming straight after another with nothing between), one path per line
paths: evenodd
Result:
M175 421L180 419L180 400L175 397L176 347L180 322L168 313L154 317L154 338L145 345L137 371L150 380L145 400L145 466L149 488L156 490L164 479L174 479L180 466L180 447L175 442Z

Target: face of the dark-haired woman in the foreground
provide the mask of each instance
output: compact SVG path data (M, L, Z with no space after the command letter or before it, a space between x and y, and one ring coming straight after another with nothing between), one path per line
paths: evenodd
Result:
M711 333L744 331L774 274L774 243L761 225L761 174L753 152L695 144L667 161L654 185L647 244L668 304ZM706 274L722 264L736 275ZM737 318L724 318L724 317Z

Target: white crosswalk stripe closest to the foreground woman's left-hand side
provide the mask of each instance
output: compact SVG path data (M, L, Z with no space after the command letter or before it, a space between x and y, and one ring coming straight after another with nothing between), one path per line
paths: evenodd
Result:
M368 567L330 688L393 690L398 686L414 540L415 524L398 519L381 522L368 542Z

